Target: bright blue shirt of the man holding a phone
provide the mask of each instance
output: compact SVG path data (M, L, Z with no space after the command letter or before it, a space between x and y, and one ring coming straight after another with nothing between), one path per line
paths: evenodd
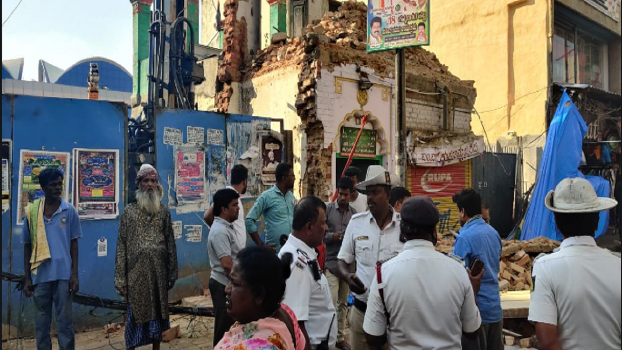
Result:
M475 258L484 263L484 277L477 293L482 323L497 323L503 319L501 297L499 296L499 259L501 258L501 237L491 225L476 217L460 229L453 253L465 260L467 267Z

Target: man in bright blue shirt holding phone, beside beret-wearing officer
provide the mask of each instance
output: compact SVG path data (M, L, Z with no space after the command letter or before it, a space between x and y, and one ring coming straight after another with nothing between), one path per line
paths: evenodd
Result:
M477 305L480 308L481 328L478 339L463 337L463 349L503 350L503 310L499 296L499 259L501 237L481 217L481 197L474 189L463 189L453 196L460 211L460 225L453 253L465 260L470 267L475 258L484 263L484 276Z

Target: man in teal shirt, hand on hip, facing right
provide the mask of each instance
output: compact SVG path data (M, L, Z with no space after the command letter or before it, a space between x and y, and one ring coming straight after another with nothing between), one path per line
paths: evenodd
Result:
M253 208L246 215L246 231L256 245L266 245L279 252L281 236L289 236L294 219L296 199L290 191L294 189L294 167L291 164L279 164L274 172L276 184L255 201ZM266 242L262 242L257 233L257 220L263 217L266 226Z

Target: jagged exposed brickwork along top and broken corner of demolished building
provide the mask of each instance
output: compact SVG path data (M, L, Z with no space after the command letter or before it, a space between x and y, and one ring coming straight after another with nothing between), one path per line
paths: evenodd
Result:
M333 72L335 67L343 64L358 64L373 69L374 75L381 78L394 75L394 52L366 53L366 13L367 6L363 2L344 2L337 12L327 12L322 21L305 27L302 37L273 40L273 44L259 50L244 69L249 72L246 79L250 80L291 65L300 68L295 108L302 124L300 130L307 135L307 144L302 145L307 148L306 173L302 174L301 179L303 196L313 194L327 199L332 183L332 147L323 148L324 126L317 118L317 79L320 78L320 70L324 68ZM448 93L454 89L463 93L467 91L466 95L475 100L473 82L452 75L435 54L422 47L411 47L405 51L407 75L422 78L428 85L440 82ZM423 88L413 85L411 88L436 92L434 86ZM453 102L453 97L450 100Z

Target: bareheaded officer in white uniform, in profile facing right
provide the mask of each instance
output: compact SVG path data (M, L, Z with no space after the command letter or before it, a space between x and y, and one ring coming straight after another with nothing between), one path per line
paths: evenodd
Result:
M335 306L315 252L327 230L326 204L317 197L306 197L294 208L292 234L279 252L279 257L285 253L294 257L283 303L294 311L311 349L322 343L333 349L337 341Z

